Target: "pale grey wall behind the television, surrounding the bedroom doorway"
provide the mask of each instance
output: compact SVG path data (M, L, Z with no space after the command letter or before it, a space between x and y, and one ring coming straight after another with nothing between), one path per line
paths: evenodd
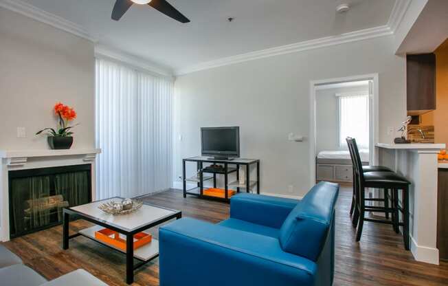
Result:
M201 151L201 126L238 125L241 156L261 159L262 192L304 195L311 176L309 138L289 142L287 135L309 135L310 80L372 73L379 74L379 139L385 141L387 126L399 126L406 115L405 60L394 55L393 36L180 76L175 83L176 179L181 159Z

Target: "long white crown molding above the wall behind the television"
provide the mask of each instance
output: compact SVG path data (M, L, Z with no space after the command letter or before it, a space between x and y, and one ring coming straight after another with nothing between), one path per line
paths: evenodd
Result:
M239 54L236 56L229 56L226 58L219 58L218 60L200 63L199 65L194 65L192 67L176 69L175 75L181 76L183 74L190 74L191 72L199 72L203 69L212 69L214 67L222 67L224 65L232 65L235 63L242 63L245 61L253 61L259 58L268 58L271 56L278 56L281 54L303 52L306 50L314 50L321 47L328 47L331 45L340 45L344 43L377 38L379 36L389 36L391 34L393 34L393 31L390 29L390 27L388 25L383 25L376 28L368 28L365 30L348 32L337 36L326 36L320 39L303 41L300 43L293 43L290 45L282 45L279 47L271 47L266 50L248 52L246 54Z

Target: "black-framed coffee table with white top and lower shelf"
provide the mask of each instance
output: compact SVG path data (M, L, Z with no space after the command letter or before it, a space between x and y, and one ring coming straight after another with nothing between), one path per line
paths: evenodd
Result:
M69 239L82 235L125 253L126 283L131 284L134 281L134 270L142 267L149 261L159 256L159 241L154 238L150 243L134 250L134 234L137 234L138 232L145 232L145 230L147 232L149 228L153 228L156 225L164 223L165 221L169 221L170 219L180 219L182 217L182 212L179 210L162 208L160 206L153 206L148 203L144 203L142 208L139 208L139 210L136 210L131 214L112 215L107 214L98 208L100 204L106 203L107 201L121 200L122 198L120 197L113 197L111 199L94 201L93 203L87 203L81 206L64 208L62 248L67 250L69 248ZM76 234L69 235L69 220L71 215L74 215L80 219L85 219L86 221L90 221L96 225L91 228L80 230L80 232ZM122 234L123 239L126 239L126 251L96 239L95 232L101 230L102 228L109 228L110 230L114 230ZM134 265L133 259L137 259L140 262Z

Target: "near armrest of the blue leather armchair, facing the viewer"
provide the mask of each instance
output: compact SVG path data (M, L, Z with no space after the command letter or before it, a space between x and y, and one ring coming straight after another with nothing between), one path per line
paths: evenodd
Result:
M278 239L189 218L159 229L159 267L161 286L306 286L317 270Z

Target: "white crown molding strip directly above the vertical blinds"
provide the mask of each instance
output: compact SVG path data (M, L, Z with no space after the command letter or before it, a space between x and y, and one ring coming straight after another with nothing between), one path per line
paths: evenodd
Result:
M152 63L144 58L139 58L137 56L132 56L131 54L126 54L120 50L115 50L111 47L104 45L95 46L95 57L96 58L106 58L113 61L118 61L129 65L135 69L142 70L144 72L153 74L154 76L163 76L165 78L173 78L172 70L166 67L161 67L155 63Z

